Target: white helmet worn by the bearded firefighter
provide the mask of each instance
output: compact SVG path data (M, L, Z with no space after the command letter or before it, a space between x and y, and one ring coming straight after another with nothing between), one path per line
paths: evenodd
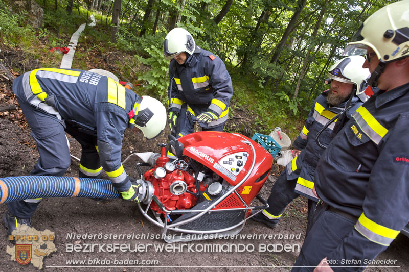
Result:
M366 79L370 76L368 68L362 68L365 58L362 56L349 56L335 62L328 70L328 77L333 80L352 83L356 87L356 95L366 89Z

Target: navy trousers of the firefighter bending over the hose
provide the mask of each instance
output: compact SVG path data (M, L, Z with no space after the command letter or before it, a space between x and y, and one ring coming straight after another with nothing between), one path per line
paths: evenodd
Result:
M81 165L88 169L101 167L96 149L97 137L81 132L78 128L62 121L55 115L36 109L27 100L17 97L18 103L31 128L31 135L37 142L40 157L30 172L32 176L63 176L70 167L71 157L65 130L82 146ZM79 177L87 177L79 172ZM89 178L99 178L89 177ZM31 218L41 199L21 200L7 204L10 212L20 218Z

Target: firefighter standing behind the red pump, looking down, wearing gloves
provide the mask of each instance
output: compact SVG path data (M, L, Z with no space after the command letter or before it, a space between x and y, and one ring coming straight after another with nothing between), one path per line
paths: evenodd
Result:
M232 80L223 61L196 45L192 35L174 28L166 35L164 55L169 64L169 125L172 135L202 130L223 131L233 95Z

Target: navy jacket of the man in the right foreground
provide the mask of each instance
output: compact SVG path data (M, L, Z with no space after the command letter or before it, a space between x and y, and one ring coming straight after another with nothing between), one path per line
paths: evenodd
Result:
M317 195L358 218L328 260L371 260L407 224L408 105L409 84L372 95L320 159L315 170Z

